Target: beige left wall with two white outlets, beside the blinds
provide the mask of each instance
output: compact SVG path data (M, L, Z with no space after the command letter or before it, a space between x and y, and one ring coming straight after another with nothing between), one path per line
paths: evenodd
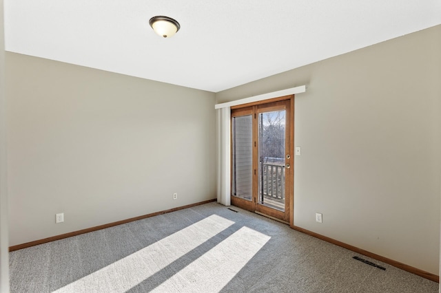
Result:
M10 52L6 82L11 246L216 197L213 93Z

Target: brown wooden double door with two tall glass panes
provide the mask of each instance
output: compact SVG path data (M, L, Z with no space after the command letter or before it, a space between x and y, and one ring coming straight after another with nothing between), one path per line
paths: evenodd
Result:
M290 222L294 96L232 108L232 204Z

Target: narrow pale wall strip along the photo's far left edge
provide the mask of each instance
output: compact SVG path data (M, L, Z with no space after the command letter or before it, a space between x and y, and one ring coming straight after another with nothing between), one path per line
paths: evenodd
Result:
M3 0L0 0L0 292L9 292L4 48L5 42L3 34Z

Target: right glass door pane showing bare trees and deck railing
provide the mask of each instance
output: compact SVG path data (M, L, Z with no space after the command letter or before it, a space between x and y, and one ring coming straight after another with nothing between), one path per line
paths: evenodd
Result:
M286 111L258 114L258 204L285 210Z

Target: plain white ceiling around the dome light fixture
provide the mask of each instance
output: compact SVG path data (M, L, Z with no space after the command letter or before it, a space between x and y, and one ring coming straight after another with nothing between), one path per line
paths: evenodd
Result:
M441 23L440 0L4 0L6 50L221 91ZM172 17L170 39L148 21Z

